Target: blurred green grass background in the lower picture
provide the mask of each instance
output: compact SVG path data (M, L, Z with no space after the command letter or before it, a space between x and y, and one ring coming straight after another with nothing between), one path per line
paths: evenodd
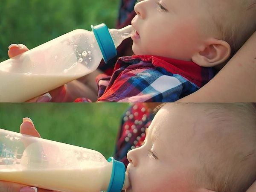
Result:
M19 132L23 117L41 137L113 155L128 103L0 103L0 128Z

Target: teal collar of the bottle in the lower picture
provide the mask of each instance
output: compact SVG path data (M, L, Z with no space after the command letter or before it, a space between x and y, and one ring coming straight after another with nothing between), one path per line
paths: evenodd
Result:
M125 165L113 157L109 157L108 162L112 162L113 166L107 192L121 192L125 182Z

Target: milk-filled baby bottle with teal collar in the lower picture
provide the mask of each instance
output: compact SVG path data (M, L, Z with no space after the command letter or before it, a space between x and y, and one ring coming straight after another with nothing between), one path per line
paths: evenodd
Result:
M121 192L123 163L98 151L0 129L0 180L60 192Z

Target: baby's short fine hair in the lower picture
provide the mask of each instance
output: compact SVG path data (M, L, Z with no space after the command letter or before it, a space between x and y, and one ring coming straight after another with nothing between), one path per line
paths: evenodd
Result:
M201 167L192 171L195 186L208 186L215 192L245 192L256 180L255 103L163 103L173 107L200 110L214 132L201 136L208 151L197 149ZM202 144L203 145L203 144Z

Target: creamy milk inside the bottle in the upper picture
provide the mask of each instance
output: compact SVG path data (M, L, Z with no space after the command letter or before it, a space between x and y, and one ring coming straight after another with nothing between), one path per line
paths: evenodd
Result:
M58 75L35 75L20 73L0 73L0 102L25 102L40 94L47 93L76 79L76 77Z

